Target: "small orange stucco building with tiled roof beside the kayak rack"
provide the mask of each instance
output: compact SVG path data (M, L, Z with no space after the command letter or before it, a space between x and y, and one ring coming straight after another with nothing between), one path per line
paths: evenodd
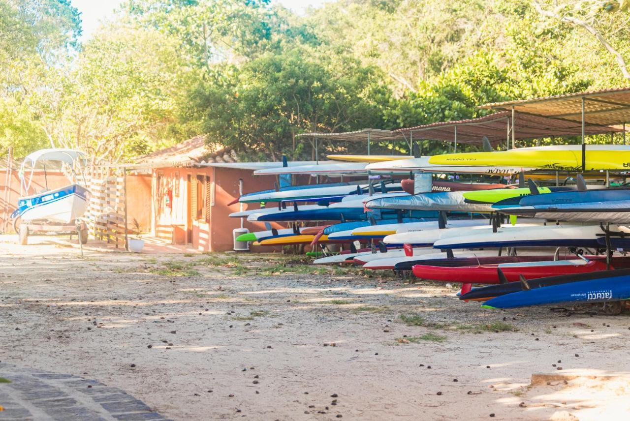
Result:
M228 215L241 206L258 205L229 204L241 189L246 193L273 188L275 176L254 177L251 169L210 167L207 162L234 162L234 157L225 150L209 150L198 136L139 160L140 166L151 168L151 230L156 237L200 251L231 250L232 230L241 228L241 218ZM128 201L134 200L133 194L128 189ZM243 222L243 227L266 229L263 223Z

